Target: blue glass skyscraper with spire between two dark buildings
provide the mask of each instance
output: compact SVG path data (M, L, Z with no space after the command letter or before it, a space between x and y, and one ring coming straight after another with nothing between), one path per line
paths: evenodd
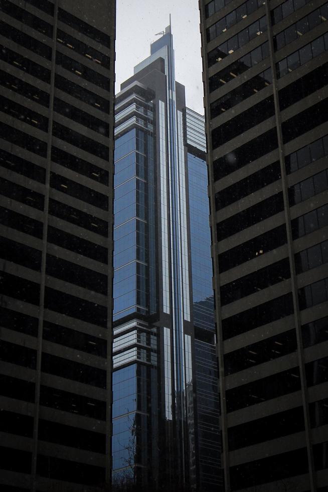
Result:
M116 95L113 490L220 490L205 151L169 26Z

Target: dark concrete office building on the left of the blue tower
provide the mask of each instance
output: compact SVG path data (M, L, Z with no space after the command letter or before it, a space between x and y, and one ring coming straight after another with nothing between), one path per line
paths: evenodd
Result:
M115 2L0 11L0 489L104 490Z

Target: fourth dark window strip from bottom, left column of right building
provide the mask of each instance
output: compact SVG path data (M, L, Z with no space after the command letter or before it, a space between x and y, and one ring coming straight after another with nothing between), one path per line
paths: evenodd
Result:
M271 336L224 355L225 374L237 373L297 350L294 329Z

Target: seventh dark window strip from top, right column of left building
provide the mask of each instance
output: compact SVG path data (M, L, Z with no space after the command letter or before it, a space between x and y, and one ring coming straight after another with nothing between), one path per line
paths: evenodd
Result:
M94 181L108 186L108 171L90 162L84 161L80 157L74 156L57 147L51 148L51 160L61 166L72 169L83 176L87 176Z

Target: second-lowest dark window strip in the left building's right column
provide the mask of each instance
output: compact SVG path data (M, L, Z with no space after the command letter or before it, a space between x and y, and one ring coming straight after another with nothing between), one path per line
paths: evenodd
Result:
M38 437L41 441L54 442L95 453L105 453L106 436L100 432L80 429L39 419Z

